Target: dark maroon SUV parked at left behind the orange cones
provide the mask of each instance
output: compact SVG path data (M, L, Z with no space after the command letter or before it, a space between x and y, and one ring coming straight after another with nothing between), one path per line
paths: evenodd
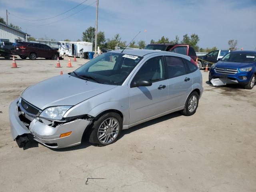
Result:
M32 60L36 58L46 58L57 60L60 53L58 48L51 48L46 44L32 42L18 42L12 50L12 54L20 56L22 59L29 57Z

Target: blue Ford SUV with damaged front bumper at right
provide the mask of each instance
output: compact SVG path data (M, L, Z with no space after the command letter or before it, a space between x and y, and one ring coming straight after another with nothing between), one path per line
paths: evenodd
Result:
M232 51L210 68L209 81L224 78L226 84L252 89L256 81L256 51Z

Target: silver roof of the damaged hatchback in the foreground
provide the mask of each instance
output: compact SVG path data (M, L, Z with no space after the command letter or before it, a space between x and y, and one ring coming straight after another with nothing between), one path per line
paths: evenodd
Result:
M121 53L122 50L114 50L114 51L110 51L108 53ZM190 57L186 56L186 55L182 55L182 54L178 54L178 53L174 53L174 52L169 52L169 51L161 51L161 50L151 50L151 49L125 49L123 52L123 54L129 54L129 55L136 55L136 56L140 56L143 57L145 55L148 54L154 54L154 53L162 53L162 54L167 54L170 56L179 56L182 57L184 59L187 59L190 61Z

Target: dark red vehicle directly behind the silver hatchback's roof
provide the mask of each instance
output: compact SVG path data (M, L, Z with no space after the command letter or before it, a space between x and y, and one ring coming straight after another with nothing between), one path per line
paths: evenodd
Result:
M189 45L183 44L168 44L168 43L160 43L160 44L148 44L144 49L151 50L161 50L161 51L170 51L174 53L179 53L182 55L187 55L192 58L194 64L196 64L196 52L193 47Z

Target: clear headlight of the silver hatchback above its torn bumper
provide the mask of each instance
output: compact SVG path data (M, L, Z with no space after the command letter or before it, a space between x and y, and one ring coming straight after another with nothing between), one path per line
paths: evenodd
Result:
M72 106L48 107L39 116L52 120L61 120L67 110L69 110L71 107Z

